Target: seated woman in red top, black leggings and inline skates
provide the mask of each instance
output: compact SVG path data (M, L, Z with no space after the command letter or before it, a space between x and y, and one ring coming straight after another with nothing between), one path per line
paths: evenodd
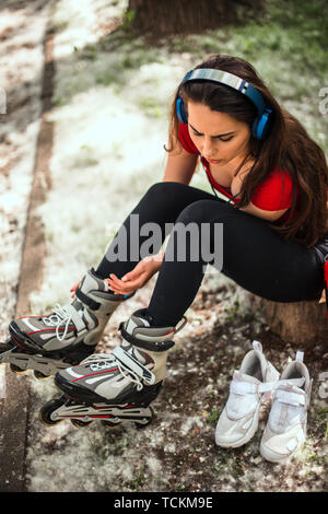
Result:
M186 75L173 102L163 182L147 191L97 269L71 290L77 296L71 304L10 326L20 347L45 359L51 354L60 361L57 369L67 367L93 352L116 306L160 271L149 306L120 325L122 343L110 355L92 355L56 375L63 392L90 406L142 407L141 414L133 413L140 423L151 416L148 406L163 383L172 338L181 328L177 325L206 266L216 264L215 253L223 252L223 273L265 299L318 299L324 287L328 170L323 151L243 59L213 56L196 70ZM189 186L199 159L214 195ZM147 237L138 233L137 266L119 253L114 258L122 242L125 255L136 246L136 217L140 227L155 223L162 233L150 256L142 255ZM199 234L209 229L196 247L187 236L181 243L177 230L190 223ZM169 224L174 229L167 248L157 255ZM195 259L195 249L203 250L200 245L207 252L198 252ZM61 405L56 409L57 419L69 416ZM54 408L47 411L49 422L52 413ZM116 416L116 421L125 418L126 407Z

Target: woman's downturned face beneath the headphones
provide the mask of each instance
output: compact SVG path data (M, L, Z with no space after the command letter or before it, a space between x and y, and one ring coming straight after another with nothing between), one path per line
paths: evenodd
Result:
M249 153L248 125L204 104L188 101L188 129L201 156L211 164L224 166Z

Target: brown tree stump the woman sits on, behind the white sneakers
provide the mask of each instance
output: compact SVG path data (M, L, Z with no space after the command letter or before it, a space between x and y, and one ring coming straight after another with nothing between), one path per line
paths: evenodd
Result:
M311 348L315 344L328 348L326 303L277 303L260 299L259 304L267 325L283 341L300 348Z

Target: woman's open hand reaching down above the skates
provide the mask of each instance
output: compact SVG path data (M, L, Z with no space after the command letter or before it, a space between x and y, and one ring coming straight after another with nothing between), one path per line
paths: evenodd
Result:
M142 288L161 268L164 254L144 257L129 273L118 279L112 273L105 279L115 294L131 294Z

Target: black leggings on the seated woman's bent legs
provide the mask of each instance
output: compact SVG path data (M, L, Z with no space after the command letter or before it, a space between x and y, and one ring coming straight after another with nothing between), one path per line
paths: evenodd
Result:
M206 265L213 264L213 250L222 242L223 266L221 271L237 284L251 293L276 302L297 302L318 299L324 285L323 266L313 248L304 248L293 241L283 241L267 222L257 217L235 209L211 194L179 183L166 182L154 184L140 200L131 214L139 214L139 226L156 223L162 229L163 237L153 244L149 254L159 253L167 233L167 223L174 223L165 257L157 281L147 309L153 316L155 325L175 326L191 305L204 276ZM116 247L118 237L125 229L128 253L131 214L109 246ZM137 217L134 217L137 219ZM199 258L195 260L195 241L186 237L186 255L177 258L177 226L210 227L209 258L199 248ZM214 233L214 224L222 223L223 237ZM190 225L189 225L190 226ZM188 232L186 231L186 234ZM149 240L148 235L139 236L139 248ZM215 244L216 244L215 243ZM197 246L197 245L196 245ZM223 252L222 252L223 250ZM134 252L136 253L136 252ZM108 250L106 252L108 256ZM168 255L171 257L168 257ZM172 257L173 256L173 257ZM137 266L144 255L134 256L136 260L108 261L106 256L97 268L103 278L109 273L121 278Z

